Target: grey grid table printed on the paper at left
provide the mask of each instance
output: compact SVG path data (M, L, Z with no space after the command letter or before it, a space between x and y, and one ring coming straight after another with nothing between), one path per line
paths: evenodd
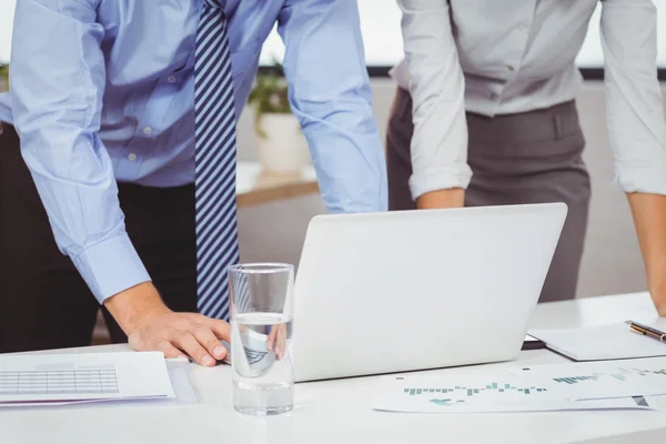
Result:
M118 393L115 369L0 372L0 395Z

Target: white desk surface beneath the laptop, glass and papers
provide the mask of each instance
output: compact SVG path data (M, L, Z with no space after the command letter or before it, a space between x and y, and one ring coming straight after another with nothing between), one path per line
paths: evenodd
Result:
M657 317L647 294L607 296L538 306L533 326L594 325L627 317ZM297 320L296 320L297 322ZM88 347L120 351L127 346ZM77 350L81 351L81 349ZM494 367L557 363L548 351L522 352L518 361ZM473 373L490 366L432 371ZM236 414L231 369L191 373L202 404L185 406L95 406L0 411L0 443L664 443L666 396L660 412L552 412L504 414L396 414L371 408L374 377L296 385L297 407L268 418ZM597 441L598 440L598 441Z

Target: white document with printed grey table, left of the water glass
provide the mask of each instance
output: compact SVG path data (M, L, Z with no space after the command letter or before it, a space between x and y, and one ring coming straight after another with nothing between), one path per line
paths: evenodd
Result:
M0 407L173 397L158 352L0 355Z

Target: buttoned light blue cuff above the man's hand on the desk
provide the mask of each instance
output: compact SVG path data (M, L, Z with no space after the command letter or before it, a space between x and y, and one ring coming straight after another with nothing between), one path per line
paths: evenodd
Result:
M100 304L151 280L127 233L95 243L72 261Z

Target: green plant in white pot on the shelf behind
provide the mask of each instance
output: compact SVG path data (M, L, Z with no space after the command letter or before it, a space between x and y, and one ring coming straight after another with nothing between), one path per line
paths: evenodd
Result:
M310 164L307 142L291 111L280 63L256 75L249 103L255 110L256 157L263 170L293 173Z

